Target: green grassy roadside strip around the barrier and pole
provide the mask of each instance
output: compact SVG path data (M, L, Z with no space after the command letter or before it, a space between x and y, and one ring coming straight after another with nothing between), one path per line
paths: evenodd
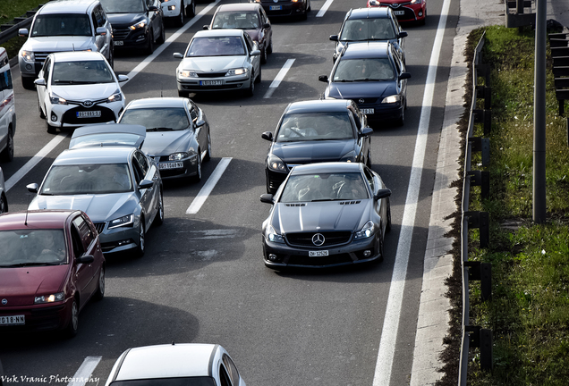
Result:
M471 32L467 53L470 61L484 30ZM482 372L480 354L471 350L469 384L566 385L569 379L569 147L566 121L558 114L552 61L548 52L548 221L536 225L531 221L533 30L520 33L518 29L499 26L487 28L482 55L483 63L491 68L491 155L488 168L482 168L480 154L473 156L472 165L475 169L478 164L480 170L490 173L490 197L482 200L480 187L473 187L471 210L488 212L490 241L489 248L479 248L478 230L471 231L469 251L471 261L492 264L492 300L481 302L479 282L471 281L471 325L493 331L494 370ZM566 110L569 110L567 105ZM466 124L463 118L463 130ZM481 125L475 135L484 136ZM455 214L455 219L459 220L460 214ZM460 221L455 221L455 226L460 230ZM460 268L458 244L454 246L454 256ZM462 289L461 271L456 268L454 277L447 280L454 305L451 313L454 327L446 338L449 346L443 354L446 375L439 383L445 385L455 385L458 373Z

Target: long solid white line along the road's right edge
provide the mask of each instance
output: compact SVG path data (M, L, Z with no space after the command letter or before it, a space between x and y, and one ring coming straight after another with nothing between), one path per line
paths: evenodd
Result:
M425 159L431 106L435 93L438 57L445 33L446 16L449 7L450 0L445 0L441 10L440 20L438 21L437 35L435 36L435 42L431 51L429 71L427 72L427 81L425 82L425 93L423 94L423 102L421 104L422 108L420 111L419 129L417 130L417 142L415 142L415 153L413 155L411 176L409 178L409 189L407 190L407 198L403 210L401 234L399 235L399 241L397 243L395 266L389 287L389 295L387 297L386 315L381 331L381 339L379 340L378 362L376 363L373 386L388 386L391 380L397 330L399 329L401 306L403 305L405 276L407 275L407 264L409 263L409 253L411 249L412 231L419 200L420 177Z

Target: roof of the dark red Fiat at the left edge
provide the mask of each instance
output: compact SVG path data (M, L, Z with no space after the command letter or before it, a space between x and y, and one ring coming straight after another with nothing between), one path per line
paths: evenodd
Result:
M69 216L79 213L81 213L81 211L78 210L31 210L0 214L0 231L47 228L63 229Z

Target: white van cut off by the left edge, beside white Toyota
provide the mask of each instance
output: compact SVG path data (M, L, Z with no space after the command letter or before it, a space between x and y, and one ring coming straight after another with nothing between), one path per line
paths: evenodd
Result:
M4 47L0 47L0 158L13 159L13 136L16 132L16 107L13 102L12 72Z

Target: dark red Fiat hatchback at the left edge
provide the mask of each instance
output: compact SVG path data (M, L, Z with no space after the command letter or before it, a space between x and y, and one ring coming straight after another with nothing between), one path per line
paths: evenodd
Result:
M81 211L1 214L0 251L0 334L65 330L75 336L81 309L105 296L98 232Z

